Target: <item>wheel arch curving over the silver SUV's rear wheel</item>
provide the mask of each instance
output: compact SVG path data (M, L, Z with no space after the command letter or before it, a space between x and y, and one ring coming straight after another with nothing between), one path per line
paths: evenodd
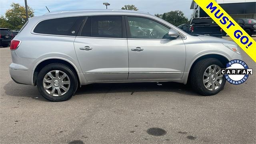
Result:
M42 70L42 68L44 68L44 66L47 66L48 64L52 64L52 63L60 63L60 64L64 64L66 66L68 66L69 68L71 68L74 73L76 74L76 77L78 78L78 86L81 85L81 77L78 74L78 68L69 60L64 60L61 58L47 58L47 59L43 59L41 61L39 61L36 66L34 66L33 68L33 77L32 77L32 82L33 85L36 86L36 78L38 73L40 72L40 70Z

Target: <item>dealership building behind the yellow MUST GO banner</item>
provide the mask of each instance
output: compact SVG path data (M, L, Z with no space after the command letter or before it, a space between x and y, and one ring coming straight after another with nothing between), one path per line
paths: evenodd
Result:
M233 19L254 18L256 19L256 0L215 0ZM193 10L194 18L208 17L198 4L192 1L190 9Z

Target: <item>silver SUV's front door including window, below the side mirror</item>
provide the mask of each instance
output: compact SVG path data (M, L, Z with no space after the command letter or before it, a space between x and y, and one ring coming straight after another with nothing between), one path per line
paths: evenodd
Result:
M155 20L126 16L129 80L181 79L186 50L182 38L168 39L170 28Z

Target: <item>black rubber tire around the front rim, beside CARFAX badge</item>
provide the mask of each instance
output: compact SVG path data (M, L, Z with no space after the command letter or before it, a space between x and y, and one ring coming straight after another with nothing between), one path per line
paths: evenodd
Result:
M218 94L223 88L226 83L226 78L223 76L222 83L220 84L219 88L216 90L208 90L204 86L203 77L205 70L212 65L217 65L220 68L224 68L223 64L216 58L206 58L203 60L198 61L192 71L190 73L190 85L196 92L203 96L212 96Z

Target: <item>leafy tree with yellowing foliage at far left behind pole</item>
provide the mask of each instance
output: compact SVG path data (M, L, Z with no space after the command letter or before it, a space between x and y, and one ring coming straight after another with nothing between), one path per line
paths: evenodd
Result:
M26 23L26 10L20 4L12 3L11 9L7 10L5 16L0 16L0 27L11 30L20 29ZM34 10L28 6L28 17L34 16Z

